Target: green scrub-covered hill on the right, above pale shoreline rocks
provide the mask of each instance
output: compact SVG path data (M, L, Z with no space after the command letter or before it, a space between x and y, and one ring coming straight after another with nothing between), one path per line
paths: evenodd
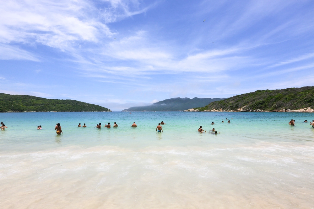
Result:
M314 109L314 86L287 88L280 90L258 90L241 94L225 100L211 102L198 111L278 111L283 109L297 110L311 107Z

